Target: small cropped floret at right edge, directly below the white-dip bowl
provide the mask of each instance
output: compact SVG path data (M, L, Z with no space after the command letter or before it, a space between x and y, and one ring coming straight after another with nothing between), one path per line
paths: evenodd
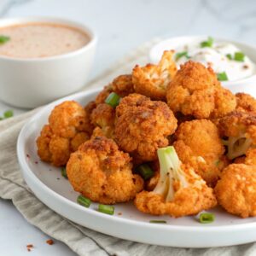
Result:
M236 93L236 110L256 113L256 99L246 93Z

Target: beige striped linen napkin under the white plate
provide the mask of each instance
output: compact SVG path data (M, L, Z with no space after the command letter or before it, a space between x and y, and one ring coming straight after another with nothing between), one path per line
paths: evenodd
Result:
M131 68L135 64L143 64L148 61L148 49L156 41L154 40L144 44L133 51L130 55L119 61L113 68L92 81L89 87L103 86L119 74L131 73ZM0 196L3 199L12 200L24 218L47 235L65 242L75 253L82 256L256 255L256 243L237 247L186 249L158 247L133 241L124 241L86 229L53 212L39 201L27 187L21 176L16 155L16 141L20 129L26 124L27 119L34 113L37 113L37 111L38 109L35 109L15 118L0 122Z

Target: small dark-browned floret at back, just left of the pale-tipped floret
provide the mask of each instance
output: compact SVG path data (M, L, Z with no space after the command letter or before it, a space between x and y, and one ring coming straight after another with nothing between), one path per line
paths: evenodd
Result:
M131 74L120 75L113 79L112 89L119 96L124 97L134 92Z

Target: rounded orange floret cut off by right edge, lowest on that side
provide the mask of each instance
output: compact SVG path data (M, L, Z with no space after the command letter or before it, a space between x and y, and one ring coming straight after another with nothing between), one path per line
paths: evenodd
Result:
M241 218L256 216L256 166L228 166L214 191L218 203L227 212Z

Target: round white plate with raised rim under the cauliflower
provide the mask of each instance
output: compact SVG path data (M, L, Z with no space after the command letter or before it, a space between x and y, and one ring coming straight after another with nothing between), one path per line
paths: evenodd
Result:
M113 216L97 212L96 203L90 208L79 206L76 203L79 194L67 179L61 177L61 169L39 160L36 138L56 104L75 100L85 105L95 98L98 91L67 96L49 104L20 131L17 151L22 174L40 201L77 224L131 241L172 247L220 247L256 241L256 218L237 218L220 208L210 211L216 216L212 224L200 224L196 217L170 218L143 214L132 203L115 205ZM152 219L165 219L167 224L148 223Z

